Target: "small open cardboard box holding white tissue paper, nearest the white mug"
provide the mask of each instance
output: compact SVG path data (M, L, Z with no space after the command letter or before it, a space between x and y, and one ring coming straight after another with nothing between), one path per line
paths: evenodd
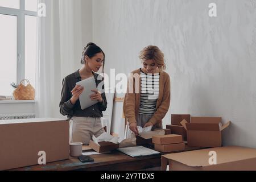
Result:
M102 152L109 152L109 151L119 148L119 143L98 142L98 144L97 144L97 143L93 142L92 140L90 140L89 147L92 147L92 149L98 153L102 153Z

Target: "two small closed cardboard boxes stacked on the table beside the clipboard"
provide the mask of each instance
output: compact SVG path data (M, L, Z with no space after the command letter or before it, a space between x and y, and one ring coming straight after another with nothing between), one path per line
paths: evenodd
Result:
M155 150L160 152L175 152L185 149L181 135L156 135L152 137L152 142L155 144Z

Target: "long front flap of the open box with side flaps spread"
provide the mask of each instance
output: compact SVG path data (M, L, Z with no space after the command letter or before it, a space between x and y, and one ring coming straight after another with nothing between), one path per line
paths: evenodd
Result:
M220 131L220 126L217 123L186 123L186 127L188 131Z

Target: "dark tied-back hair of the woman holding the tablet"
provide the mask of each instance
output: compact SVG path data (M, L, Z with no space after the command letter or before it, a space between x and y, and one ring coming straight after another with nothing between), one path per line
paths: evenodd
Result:
M84 51L82 51L82 59L81 59L81 64L85 63L85 56L88 56L89 58L92 58L95 56L97 53L103 53L104 59L103 59L103 67L102 67L102 72L104 72L104 65L105 65L105 53L102 51L100 47L98 47L96 44L90 42L87 44L87 46L84 48Z

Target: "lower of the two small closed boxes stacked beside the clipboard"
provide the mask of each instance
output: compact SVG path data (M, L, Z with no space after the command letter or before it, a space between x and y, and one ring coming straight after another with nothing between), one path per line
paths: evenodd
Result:
M185 143L155 144L155 150L159 152L175 152L185 150Z

